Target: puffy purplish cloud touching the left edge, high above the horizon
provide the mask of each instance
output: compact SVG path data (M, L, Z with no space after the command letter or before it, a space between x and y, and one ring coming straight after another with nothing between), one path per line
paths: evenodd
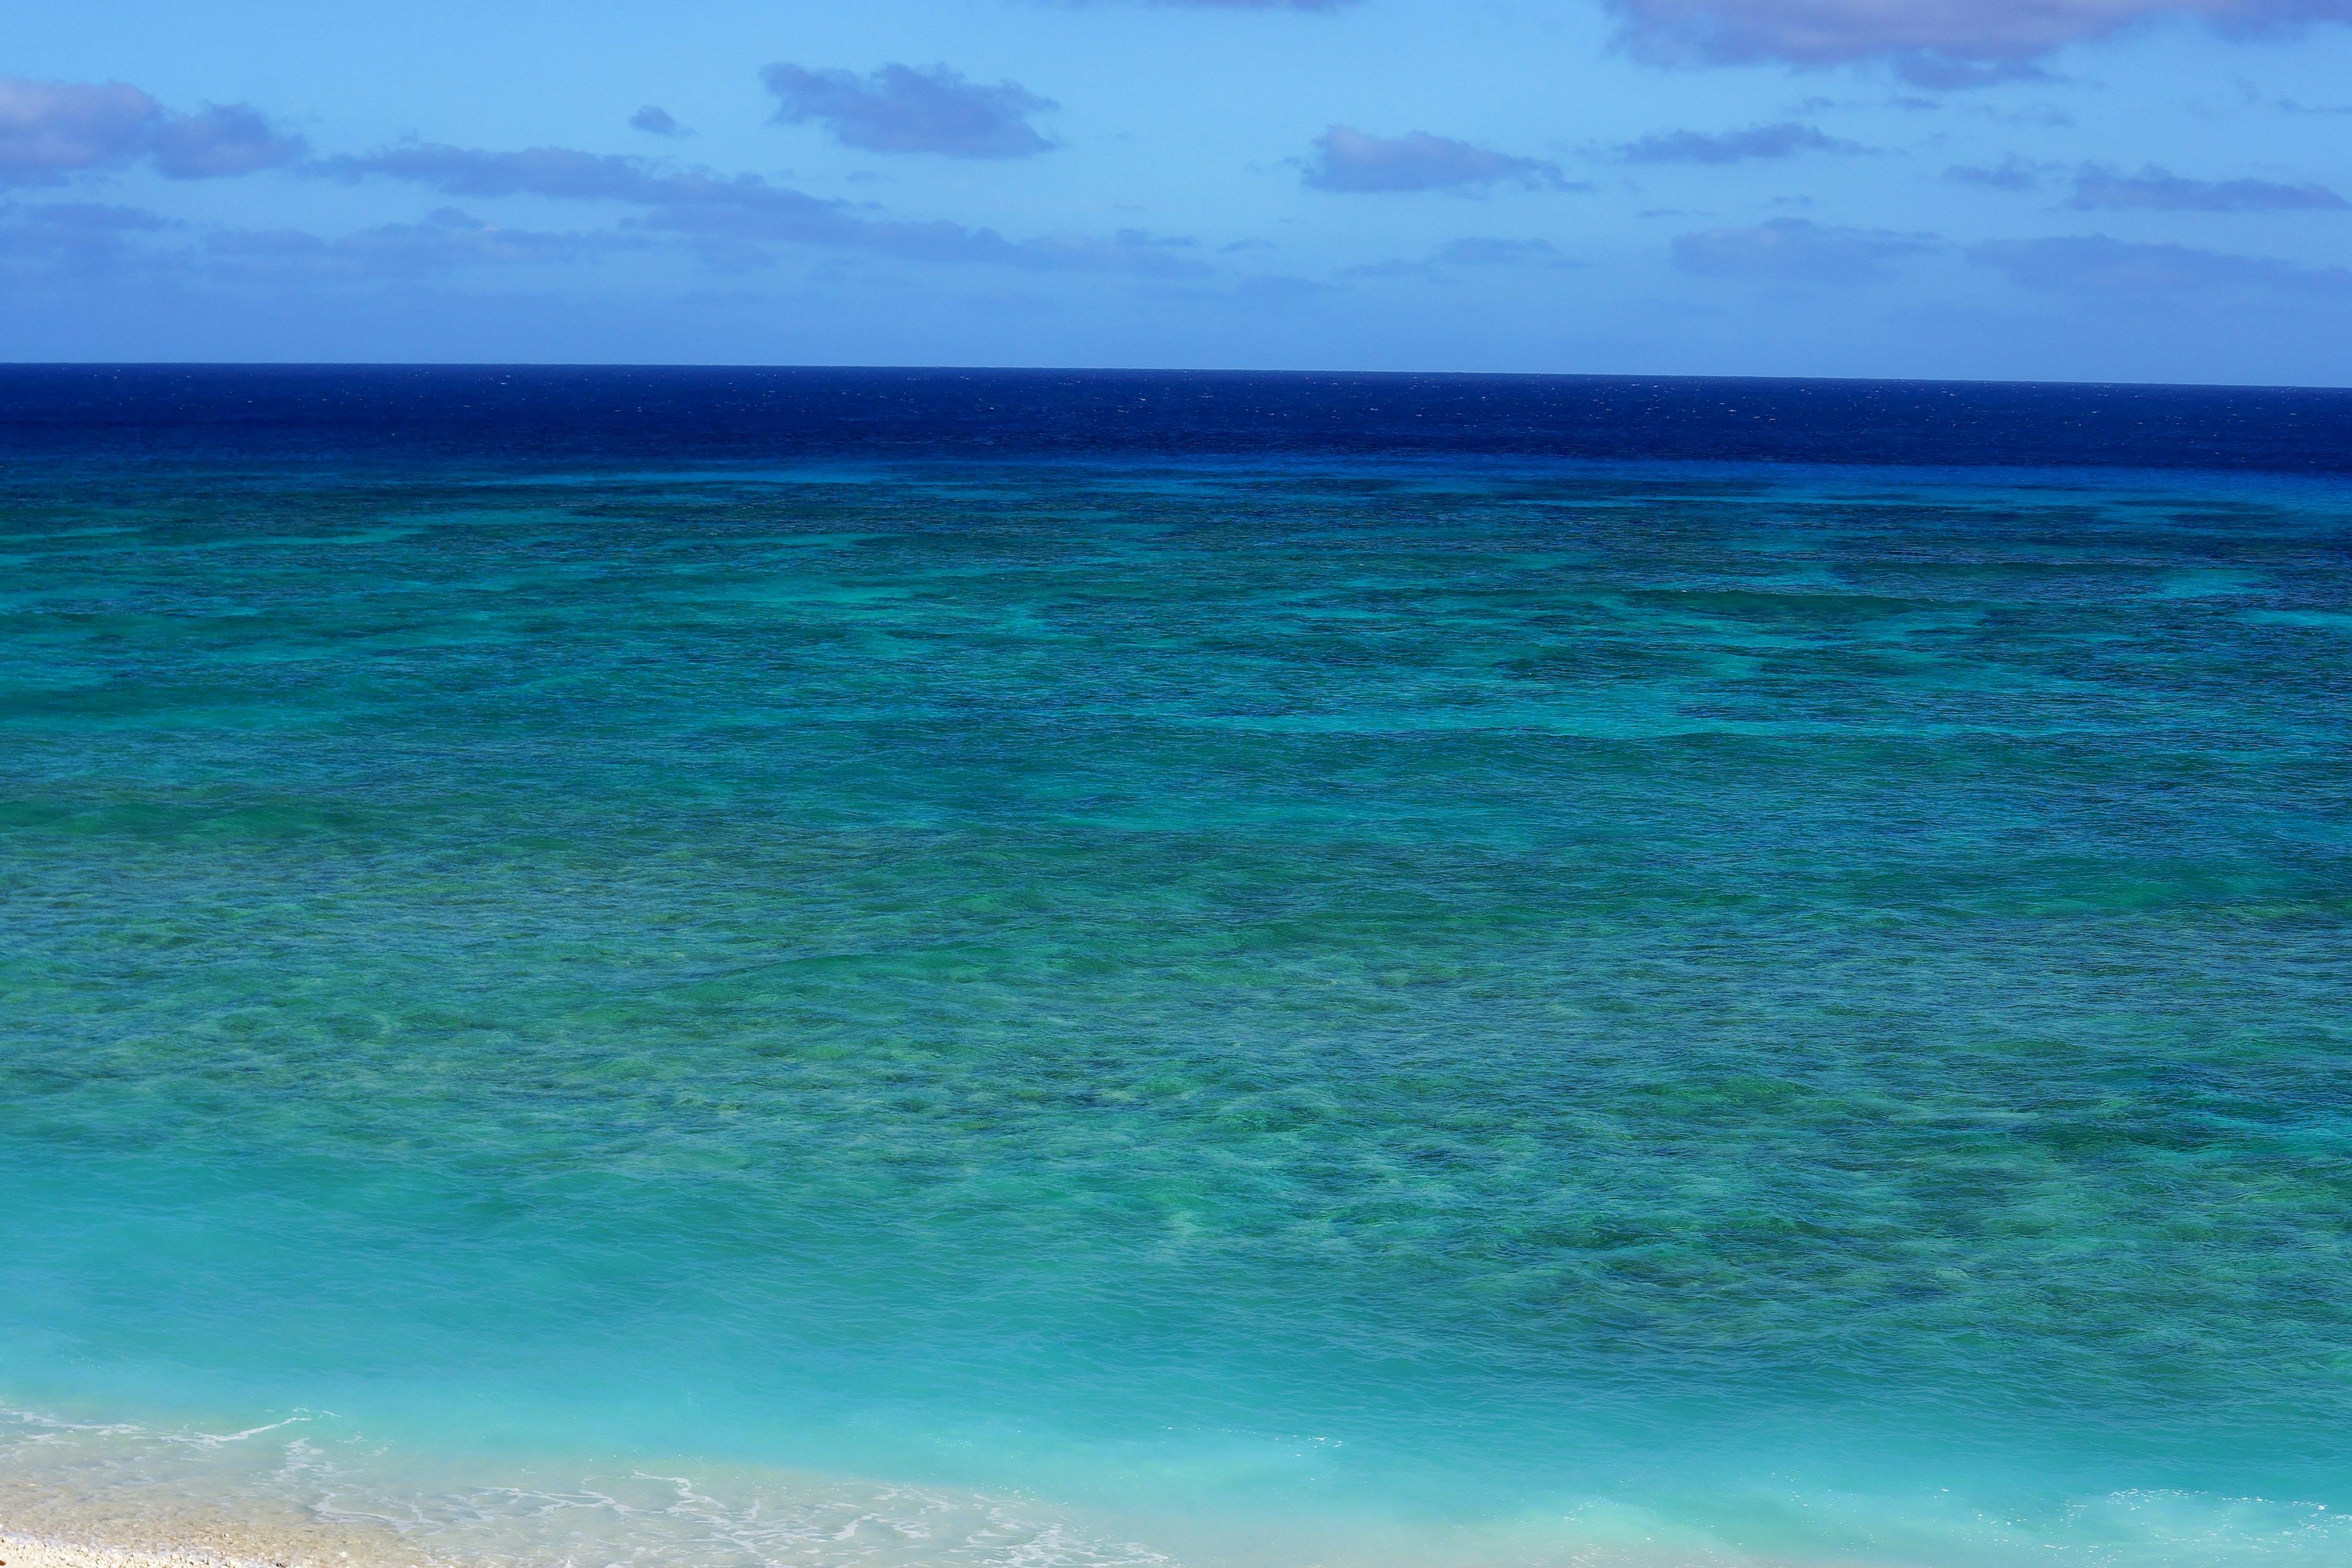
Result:
M0 78L0 186L56 186L141 160L167 179L219 179L301 153L299 136L270 129L247 103L181 115L122 82Z

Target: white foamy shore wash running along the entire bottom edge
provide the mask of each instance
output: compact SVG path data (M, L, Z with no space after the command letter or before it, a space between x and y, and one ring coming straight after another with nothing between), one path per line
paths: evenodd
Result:
M0 1408L0 1535L275 1568L2321 1568L2352 1516L2194 1490L2051 1514L1823 1490L1519 1519L1160 1519L760 1465L419 1460L327 1410L230 1432ZM1152 1535L1145 1544L1131 1535ZM125 1563L125 1568L134 1568Z

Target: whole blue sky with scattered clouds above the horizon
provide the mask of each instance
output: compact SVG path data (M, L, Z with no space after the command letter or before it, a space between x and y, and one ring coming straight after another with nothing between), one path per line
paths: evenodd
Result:
M2352 0L80 0L0 360L2352 383Z

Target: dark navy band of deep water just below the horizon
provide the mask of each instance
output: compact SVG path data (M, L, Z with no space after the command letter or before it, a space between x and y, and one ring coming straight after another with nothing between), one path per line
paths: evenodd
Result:
M0 451L195 463L1501 456L2352 473L2352 390L696 367L0 367Z

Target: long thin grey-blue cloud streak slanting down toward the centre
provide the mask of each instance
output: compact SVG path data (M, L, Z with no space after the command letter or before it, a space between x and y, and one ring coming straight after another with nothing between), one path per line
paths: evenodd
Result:
M993 228L948 221L875 219L847 202L830 202L757 174L673 174L642 158L522 148L487 153L445 143L386 148L367 158L332 158L315 172L343 179L402 179L442 195L492 200L546 195L640 207L640 228L666 230L699 244L715 261L750 263L762 244L863 249L903 261L993 263L1047 270L1141 273L1181 277L1207 263L1181 252L1192 240L1122 228L1115 235L1007 240Z

